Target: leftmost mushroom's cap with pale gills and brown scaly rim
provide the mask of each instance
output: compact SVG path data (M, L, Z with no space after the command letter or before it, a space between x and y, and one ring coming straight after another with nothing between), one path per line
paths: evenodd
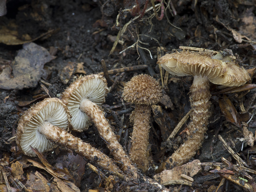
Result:
M36 156L30 146L37 148L41 153L51 151L55 147L39 131L44 128L44 122L68 129L71 124L67 106L58 98L46 98L21 116L16 131L16 143L25 155Z

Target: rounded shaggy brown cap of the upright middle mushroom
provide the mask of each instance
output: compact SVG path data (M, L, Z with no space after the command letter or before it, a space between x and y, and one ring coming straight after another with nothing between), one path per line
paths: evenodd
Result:
M123 97L126 102L135 104L156 104L163 96L159 83L152 76L140 74L132 77L124 87Z

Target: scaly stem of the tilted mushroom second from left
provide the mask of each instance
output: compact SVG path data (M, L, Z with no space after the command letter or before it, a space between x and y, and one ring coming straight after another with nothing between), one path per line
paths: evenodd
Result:
M118 142L101 108L89 99L83 99L80 103L80 109L86 113L95 127L97 127L100 137L107 143L111 154L115 157L116 161L122 164L122 170L128 172L133 178L137 178L136 168L132 164L129 156L124 152L122 145Z

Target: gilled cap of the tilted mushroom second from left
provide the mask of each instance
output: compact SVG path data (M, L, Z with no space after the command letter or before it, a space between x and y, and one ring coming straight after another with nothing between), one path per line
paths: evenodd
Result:
M73 130L82 132L91 125L88 116L80 110L80 103L83 99L101 105L105 102L105 96L108 94L108 84L102 75L87 75L76 79L62 93L62 101L65 103L72 116L71 124Z

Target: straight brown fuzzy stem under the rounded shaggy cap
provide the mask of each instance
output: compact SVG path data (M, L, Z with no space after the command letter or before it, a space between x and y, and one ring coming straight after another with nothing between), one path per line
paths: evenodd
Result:
M150 106L136 104L134 109L134 124L132 131L132 147L130 150L130 157L132 162L136 163L139 168L145 172L149 168L149 117Z

